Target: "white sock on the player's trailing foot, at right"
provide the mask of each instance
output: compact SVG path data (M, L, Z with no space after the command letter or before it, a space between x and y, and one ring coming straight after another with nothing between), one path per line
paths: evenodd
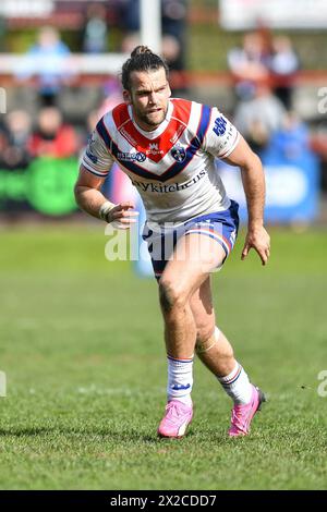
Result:
M235 404L245 405L250 403L252 386L246 373L238 362L234 369L229 375L217 378Z

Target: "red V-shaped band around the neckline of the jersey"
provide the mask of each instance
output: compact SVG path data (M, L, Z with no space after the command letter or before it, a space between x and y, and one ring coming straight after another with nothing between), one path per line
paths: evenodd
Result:
M121 103L112 110L113 121L120 134L137 151L144 153L156 163L177 144L190 120L192 102L185 99L171 101L173 105L171 119L165 132L156 138L147 138L138 132L130 118L126 103Z

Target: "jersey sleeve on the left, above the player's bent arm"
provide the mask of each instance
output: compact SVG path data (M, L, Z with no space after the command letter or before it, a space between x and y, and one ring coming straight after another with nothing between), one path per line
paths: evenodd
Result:
M87 146L82 156L82 164L93 174L106 178L114 159L109 153L105 142L95 130L88 138Z

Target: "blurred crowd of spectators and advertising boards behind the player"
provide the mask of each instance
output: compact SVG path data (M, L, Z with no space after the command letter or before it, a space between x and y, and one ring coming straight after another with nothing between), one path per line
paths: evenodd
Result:
M1 5L0 216L78 215L62 191L75 179L89 132L122 100L114 59L123 62L141 42L140 1ZM161 0L161 53L173 96L218 106L270 167L271 197L279 197L271 198L272 221L319 220L327 191L326 29L269 26L259 16L246 29L230 28L223 8L218 0ZM107 191L114 186L108 181Z

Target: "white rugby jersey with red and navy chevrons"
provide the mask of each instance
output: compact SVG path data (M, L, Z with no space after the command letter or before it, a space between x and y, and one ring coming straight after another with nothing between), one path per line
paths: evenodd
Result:
M137 126L132 107L121 103L98 122L82 163L105 178L118 162L140 192L148 221L181 223L229 208L215 157L230 155L239 137L217 108L195 101L170 99L153 132Z

